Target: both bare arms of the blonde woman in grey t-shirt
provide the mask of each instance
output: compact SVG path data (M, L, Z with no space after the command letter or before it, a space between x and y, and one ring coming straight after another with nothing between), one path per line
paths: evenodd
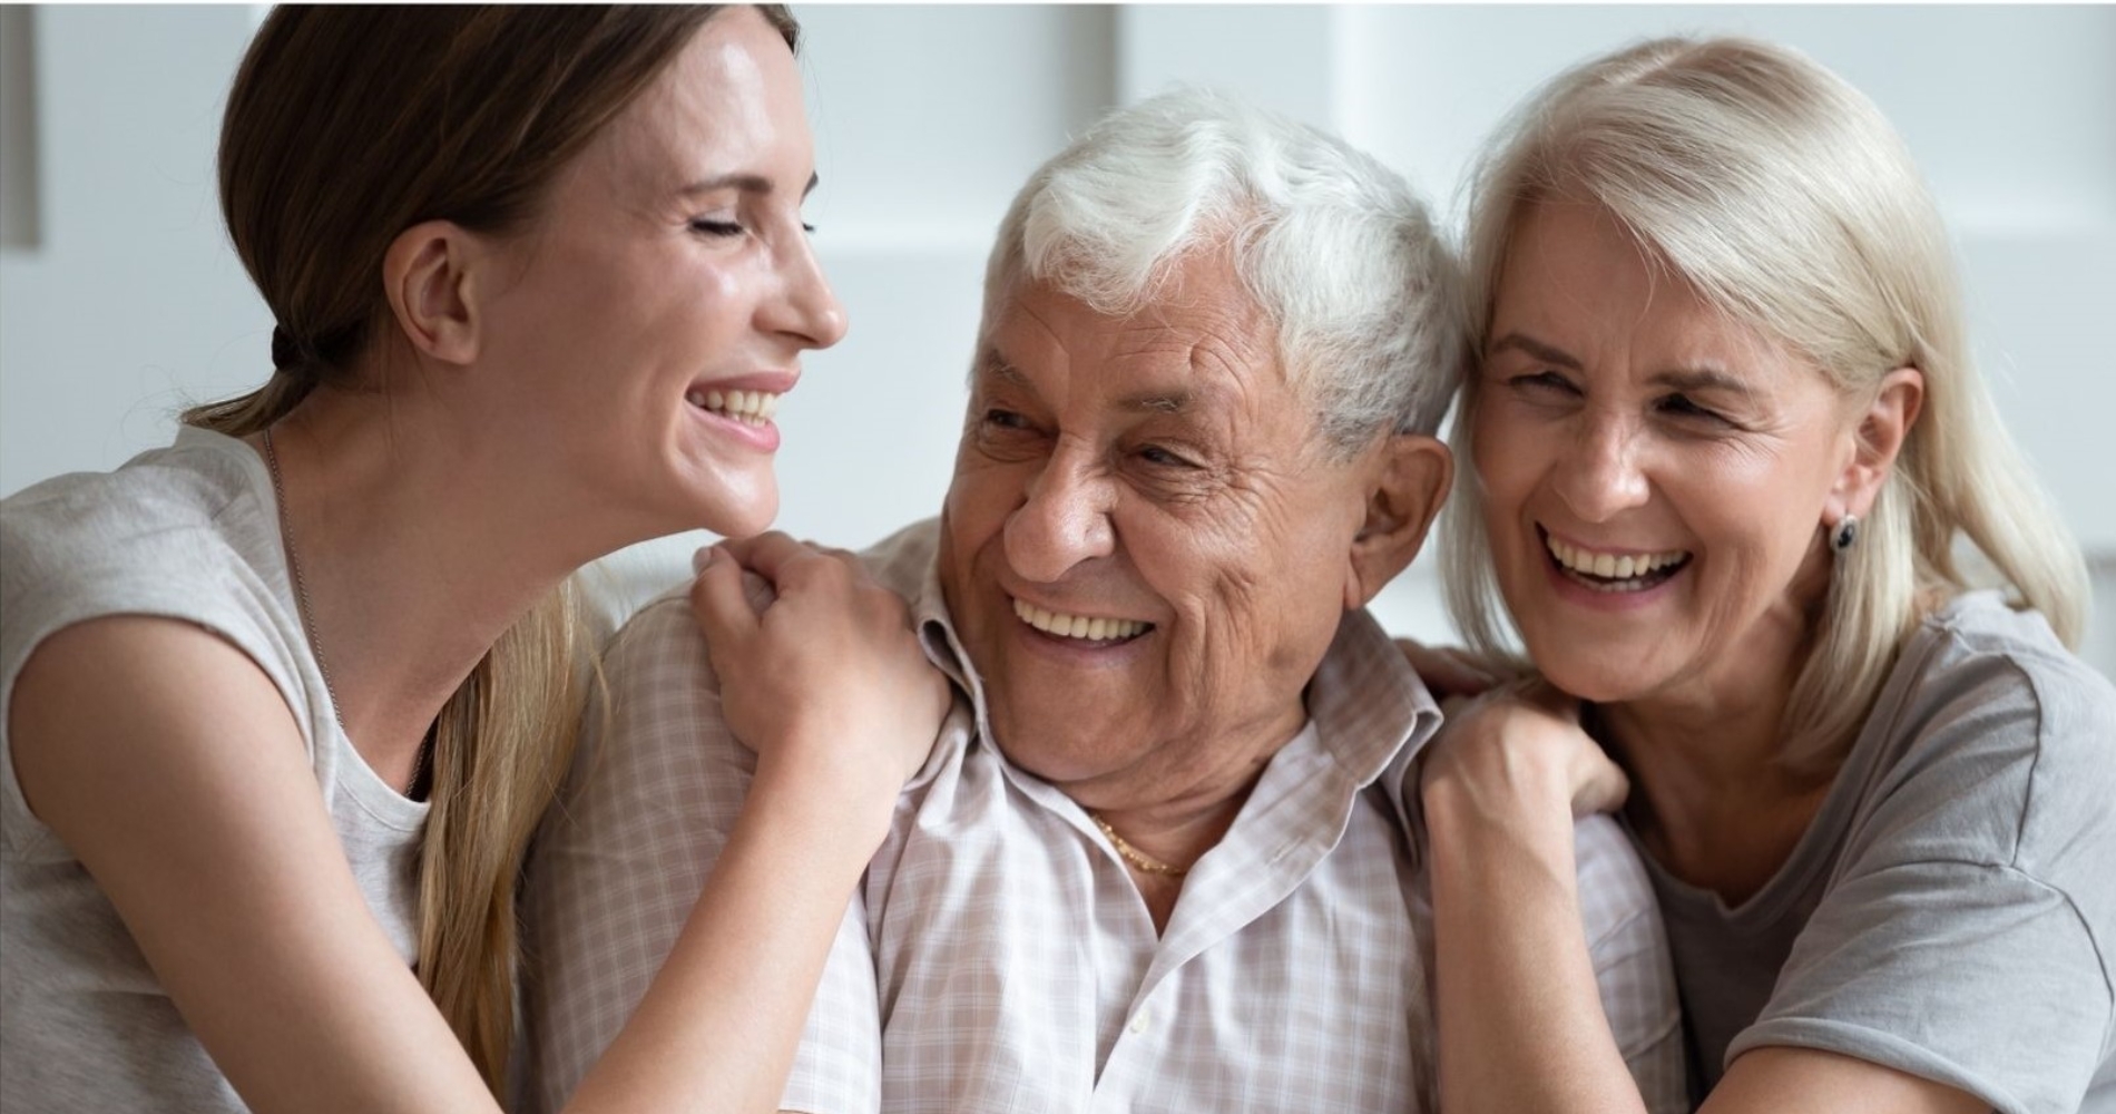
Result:
M1426 765L1441 1108L1638 1112L1581 934L1572 813L1623 796L1564 707L1494 701L1449 724ZM1890 1067L1805 1048L1733 1063L1708 1114L1985 1110Z

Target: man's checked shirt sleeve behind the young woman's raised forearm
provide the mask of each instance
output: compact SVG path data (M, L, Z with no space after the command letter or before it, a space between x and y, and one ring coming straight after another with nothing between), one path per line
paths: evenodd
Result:
M681 599L612 644L523 900L523 1099L559 1110L631 1019L741 815L755 756L726 729ZM880 1108L880 1010L855 896L832 942L783 1110Z

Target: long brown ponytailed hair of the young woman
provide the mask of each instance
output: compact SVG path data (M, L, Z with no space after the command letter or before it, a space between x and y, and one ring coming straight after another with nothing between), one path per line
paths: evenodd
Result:
M220 129L220 208L277 320L277 371L184 424L245 436L317 385L360 383L396 324L404 229L527 224L548 184L722 6L277 6ZM760 13L798 42L783 6ZM493 1091L514 1034L523 854L573 748L590 646L567 580L434 722L419 981Z

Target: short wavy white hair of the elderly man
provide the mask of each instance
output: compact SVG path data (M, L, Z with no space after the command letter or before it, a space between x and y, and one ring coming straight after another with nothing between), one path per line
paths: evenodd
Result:
M1028 178L992 246L984 322L1022 277L1134 313L1223 246L1333 447L1439 428L1464 349L1456 263L1424 203L1344 140L1202 89L1102 116Z

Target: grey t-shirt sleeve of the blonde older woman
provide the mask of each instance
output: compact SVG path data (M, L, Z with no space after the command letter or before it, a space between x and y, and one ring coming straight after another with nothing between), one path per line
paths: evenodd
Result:
M1835 879L1727 1050L1852 1055L2006 1114L2080 1108L2110 1055L2116 695L1983 654L1904 705Z

